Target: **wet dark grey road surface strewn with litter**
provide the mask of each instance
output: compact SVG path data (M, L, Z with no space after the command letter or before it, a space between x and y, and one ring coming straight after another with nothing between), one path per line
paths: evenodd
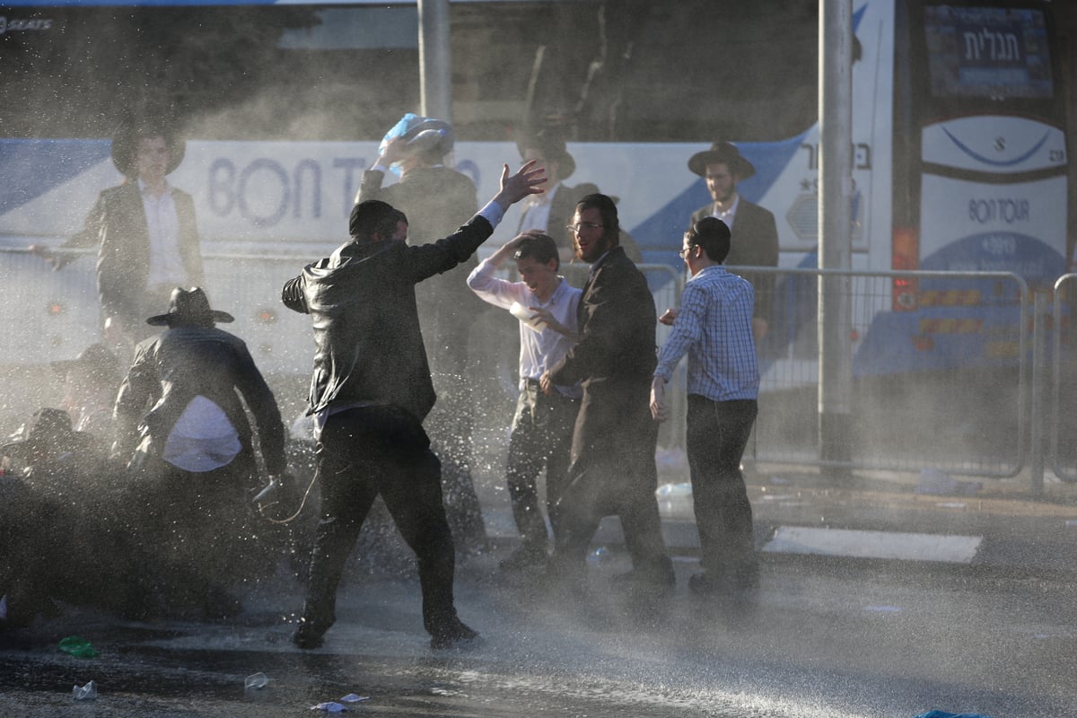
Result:
M494 540L457 580L461 616L486 637L474 650L429 648L414 574L355 571L325 645L298 651L288 636L302 591L281 577L229 623L43 621L0 649L0 716L272 718L352 692L370 700L351 715L369 716L1077 715L1077 488L984 480L975 495L927 495L918 476L760 465L749 483L763 588L733 604L687 591L690 501L682 474L663 478L669 594L614 579L628 567L614 521L585 593L499 574L515 539L504 491L484 481ZM903 551L918 558L858 555ZM60 653L72 634L101 654ZM257 672L269 684L244 691ZM97 701L75 704L72 687L90 679Z

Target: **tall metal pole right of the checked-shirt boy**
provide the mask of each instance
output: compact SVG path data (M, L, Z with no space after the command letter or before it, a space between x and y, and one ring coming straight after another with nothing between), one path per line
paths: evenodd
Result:
M820 0L819 8L819 263L821 269L852 268L853 167L852 0ZM852 428L852 311L850 278L819 281L820 459L850 462Z

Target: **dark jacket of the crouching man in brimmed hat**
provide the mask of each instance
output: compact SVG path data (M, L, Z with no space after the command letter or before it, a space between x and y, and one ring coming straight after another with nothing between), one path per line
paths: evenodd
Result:
M117 450L129 456L148 435L150 453L159 453L183 410L201 395L221 407L239 435L242 454L252 457L251 425L240 394L257 422L266 471L282 474L284 425L272 391L247 344L215 327L171 327L139 343L116 396Z

